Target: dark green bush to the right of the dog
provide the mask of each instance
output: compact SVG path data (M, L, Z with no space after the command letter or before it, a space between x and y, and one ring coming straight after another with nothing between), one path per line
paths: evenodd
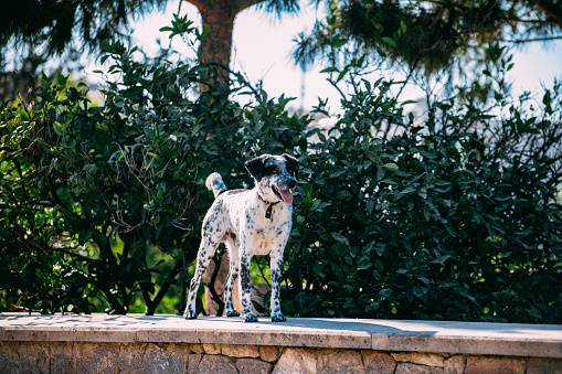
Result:
M386 89L363 82L329 137L301 157L308 182L286 276L303 287L287 291L285 310L560 323L562 211L551 160L487 153L476 125L490 118L478 110L436 103L424 124L435 127L413 116L404 124ZM373 136L391 122L400 135ZM541 121L529 125L510 141Z

